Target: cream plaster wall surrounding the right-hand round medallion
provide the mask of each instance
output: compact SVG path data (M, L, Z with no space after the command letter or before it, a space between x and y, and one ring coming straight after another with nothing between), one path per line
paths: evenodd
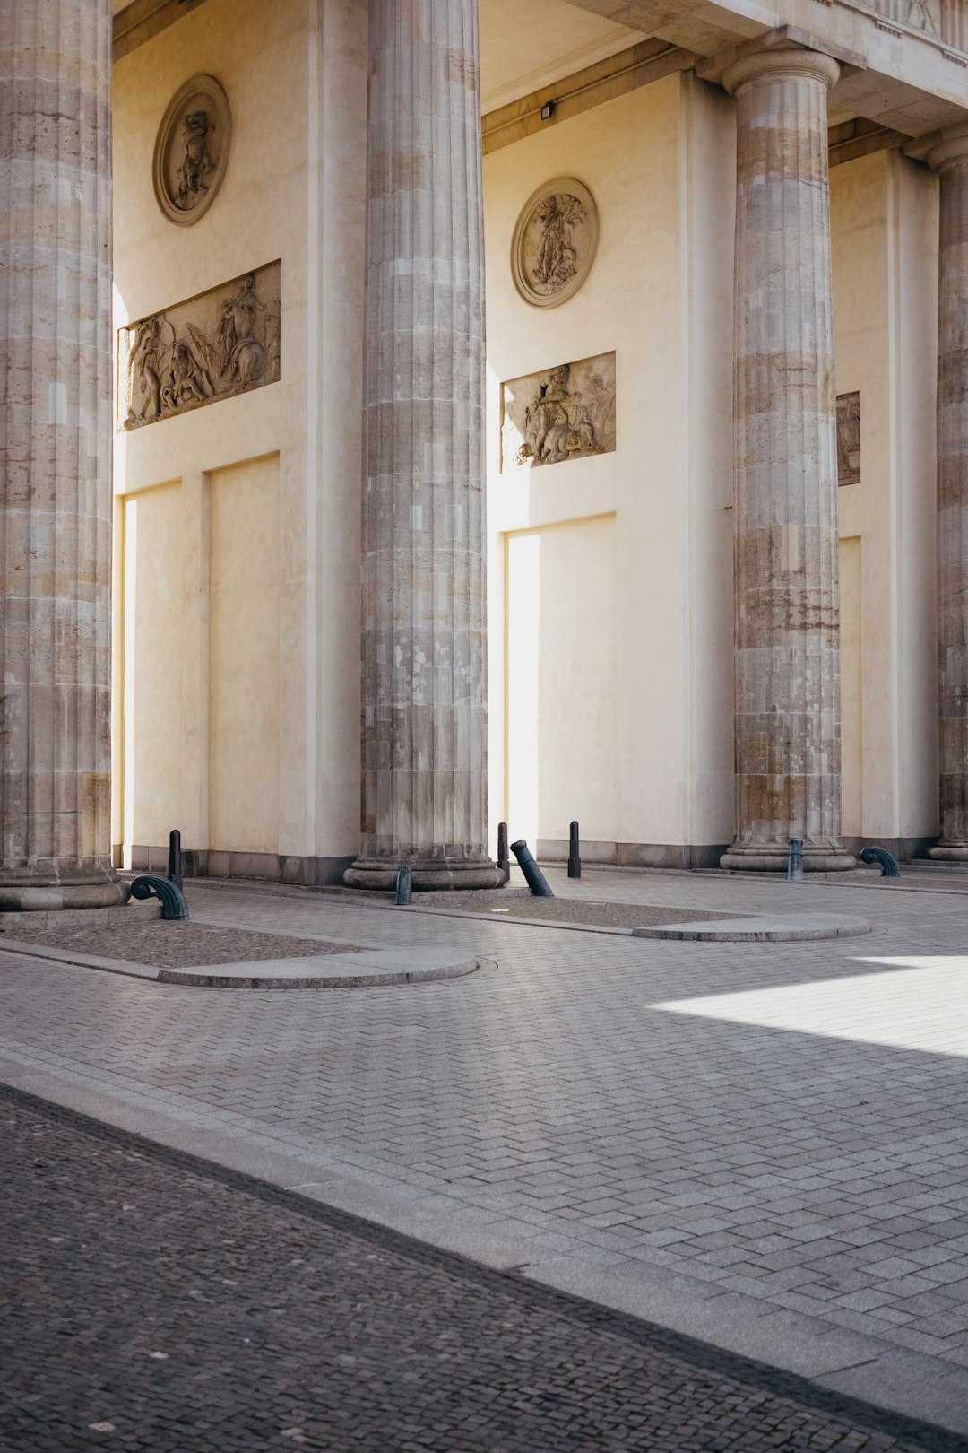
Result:
M540 725L528 828L538 840L560 840L573 817L602 844L726 843L731 833L733 150L729 100L673 76L485 160L491 812L506 814L512 834L536 808L506 747L525 729L528 700ZM530 193L556 176L591 189L598 254L573 299L536 309L514 288L509 241ZM501 379L612 349L615 452L501 474ZM589 523L601 516L614 520L614 548ZM536 538L531 616L524 575L505 572ZM557 599L544 587L556 554L573 567ZM576 782L576 763L595 760L576 741L614 742L614 769L594 769L594 793Z

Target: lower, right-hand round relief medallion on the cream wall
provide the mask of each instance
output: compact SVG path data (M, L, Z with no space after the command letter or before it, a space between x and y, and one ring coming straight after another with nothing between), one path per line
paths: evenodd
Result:
M511 272L536 308L556 308L582 286L598 247L598 208L586 186L556 177L524 203L511 241Z

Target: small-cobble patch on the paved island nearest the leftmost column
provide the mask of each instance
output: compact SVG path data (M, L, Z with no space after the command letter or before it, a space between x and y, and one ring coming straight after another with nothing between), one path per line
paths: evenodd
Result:
M205 963L257 963L266 959L305 959L324 953L354 953L351 943L325 939L296 939L247 928L212 927L200 923L163 921L104 927L78 924L70 928L17 927L13 937L23 943L128 963L149 963L158 969L190 969ZM3 937L0 937L3 949Z

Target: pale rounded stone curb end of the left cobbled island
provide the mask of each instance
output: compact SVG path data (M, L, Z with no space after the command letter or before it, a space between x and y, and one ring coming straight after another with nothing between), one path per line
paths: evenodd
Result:
M354 989L390 984L459 979L493 960L460 958L459 949L377 949L347 958L273 959L263 963L213 963L193 969L160 969L158 984L205 989ZM255 972L253 972L255 971Z

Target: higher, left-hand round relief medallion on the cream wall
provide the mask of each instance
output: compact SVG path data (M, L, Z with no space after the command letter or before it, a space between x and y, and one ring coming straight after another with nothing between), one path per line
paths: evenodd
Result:
M213 76L193 76L171 97L155 139L154 183L170 222L197 222L228 166L232 112Z

